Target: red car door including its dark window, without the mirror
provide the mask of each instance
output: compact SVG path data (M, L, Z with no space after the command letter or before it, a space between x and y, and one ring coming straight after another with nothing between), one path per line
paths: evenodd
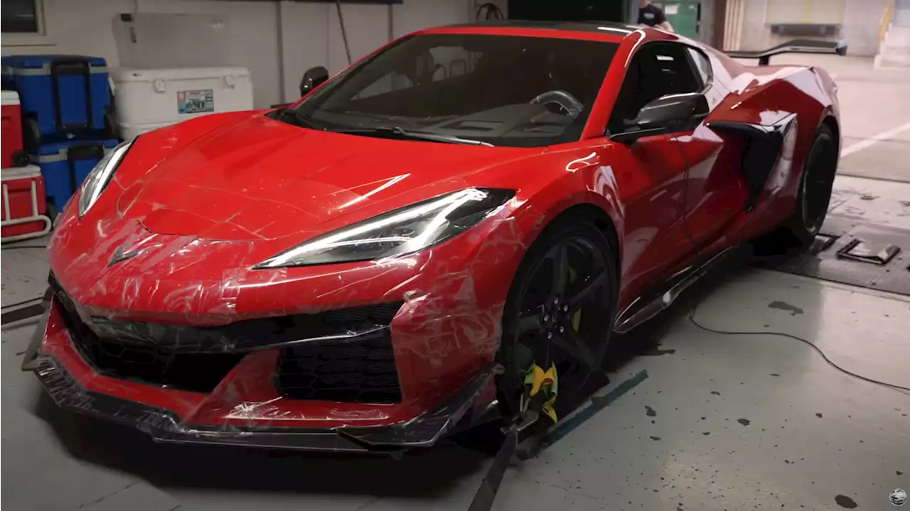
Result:
M663 95L696 92L685 46L652 42L630 61L613 106L607 130L616 135L632 129L642 106ZM613 169L625 205L622 257L624 296L637 296L674 263L693 253L685 225L688 164L679 138L692 130L643 136L612 144Z

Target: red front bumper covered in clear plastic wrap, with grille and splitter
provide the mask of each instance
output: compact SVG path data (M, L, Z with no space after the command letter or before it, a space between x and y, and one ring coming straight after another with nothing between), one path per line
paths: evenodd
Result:
M50 247L54 299L23 368L59 406L158 441L430 446L495 402L503 304L479 303L475 286L499 286L490 263L526 243L507 213L460 240L474 245L469 261L456 257L463 245L442 244L276 269L254 266L287 239L160 235L118 217L74 243L65 224Z

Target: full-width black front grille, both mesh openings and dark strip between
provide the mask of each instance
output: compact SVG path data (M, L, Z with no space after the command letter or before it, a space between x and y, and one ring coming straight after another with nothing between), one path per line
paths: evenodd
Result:
M221 327L153 325L91 318L99 336L86 325L76 304L54 276L50 278L66 328L79 354L101 375L209 393L237 366L250 348L357 331L362 326L389 326L401 304L353 307L321 314L281 316ZM152 335L154 334L154 335ZM208 342L217 339L217 343ZM227 344L235 351L206 351ZM192 351L194 350L195 351ZM389 328L352 339L308 341L283 348L275 386L293 399L397 403L398 371Z

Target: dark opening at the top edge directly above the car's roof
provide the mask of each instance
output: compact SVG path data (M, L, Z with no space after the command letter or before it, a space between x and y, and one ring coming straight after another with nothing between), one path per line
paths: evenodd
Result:
M509 0L509 17L534 21L626 21L625 0Z

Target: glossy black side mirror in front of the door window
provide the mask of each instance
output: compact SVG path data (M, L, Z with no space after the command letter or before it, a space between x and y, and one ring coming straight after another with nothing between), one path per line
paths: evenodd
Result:
M643 136L663 135L693 129L708 115L710 108L704 95L662 95L644 105L628 131L612 135L617 142L633 142Z

